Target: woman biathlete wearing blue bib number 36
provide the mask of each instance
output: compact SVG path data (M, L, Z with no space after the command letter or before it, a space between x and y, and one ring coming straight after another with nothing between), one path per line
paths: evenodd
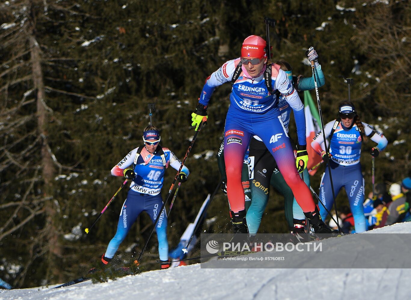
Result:
M324 145L321 131L316 135L311 146L316 152L321 153L324 161L330 164L335 196L344 186L354 216L355 230L364 232L367 229L363 211L364 178L360 164L361 145L367 137L378 143L371 149L371 155L377 157L379 152L386 148L388 141L374 127L361 122L353 103L349 101L340 103L339 118L327 123L324 132L326 138L330 140L330 157L326 155L326 145ZM334 199L328 166L321 179L320 199L330 210ZM327 216L327 211L323 206L320 207L320 214L322 218Z

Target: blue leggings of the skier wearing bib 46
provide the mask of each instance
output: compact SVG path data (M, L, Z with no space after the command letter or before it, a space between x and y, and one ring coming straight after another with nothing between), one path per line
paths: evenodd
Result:
M120 218L118 219L117 232L113 239L111 239L107 246L106 253L107 258L113 258L115 252L124 241L130 228L136 221L139 214L142 211L147 211L150 215L152 222L154 223L159 216L159 220L155 227L158 239L158 252L160 260L166 261L169 259L169 242L167 241L167 215L165 209L159 215L159 210L163 205L161 194L151 196L142 193L136 193L129 190L127 199L125 200L123 207L121 208Z

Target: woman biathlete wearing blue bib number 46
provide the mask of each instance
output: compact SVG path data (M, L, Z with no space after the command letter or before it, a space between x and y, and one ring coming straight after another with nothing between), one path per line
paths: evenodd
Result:
M127 236L142 211L146 211L153 223L159 218L155 227L158 239L158 252L161 268L170 267L169 243L167 241L167 215L163 205L161 189L164 182L164 172L170 165L179 170L181 161L168 148L159 145L160 133L155 126L145 127L143 141L145 145L133 149L116 166L111 169L113 176L124 176L132 180L118 220L117 232L111 239L106 252L102 256L103 264L108 264L114 257L121 242ZM131 167L131 168L129 168ZM187 181L189 170L183 166L178 179Z

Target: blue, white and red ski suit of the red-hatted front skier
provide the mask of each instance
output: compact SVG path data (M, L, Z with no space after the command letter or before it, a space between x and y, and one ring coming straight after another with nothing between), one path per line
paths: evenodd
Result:
M240 58L227 61L208 77L201 91L200 104L208 105L215 87L231 81L239 62ZM257 135L277 161L279 171L302 210L314 211L315 204L311 193L297 172L293 147L283 123L285 118L278 108L275 92L278 90L285 95L293 109L300 145L306 145L304 105L288 76L277 64L271 65L271 94L264 81L265 69L266 66L258 77L251 77L242 66L241 74L234 82L230 94L231 105L224 128L224 160L231 210L238 212L245 209L241 170L250 138Z

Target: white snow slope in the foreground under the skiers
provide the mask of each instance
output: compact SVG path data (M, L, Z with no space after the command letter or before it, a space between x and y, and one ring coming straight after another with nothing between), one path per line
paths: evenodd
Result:
M363 234L410 232L411 222ZM355 254L364 250L363 245L356 246L350 240L360 235L323 242L333 246L345 239L353 244L351 251ZM88 281L61 289L3 290L0 291L0 299L408 299L410 281L411 269L406 268L336 269L330 264L329 268L323 269L213 269L193 264L129 275L99 284Z

